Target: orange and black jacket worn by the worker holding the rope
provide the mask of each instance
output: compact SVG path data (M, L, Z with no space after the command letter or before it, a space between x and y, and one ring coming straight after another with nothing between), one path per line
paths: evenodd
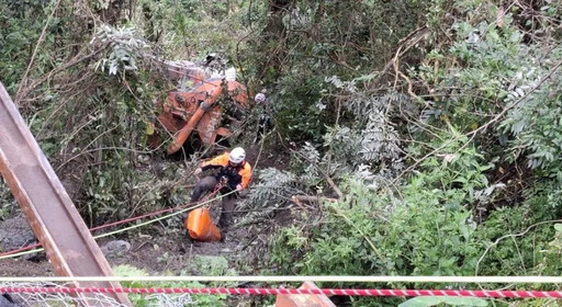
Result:
M228 163L229 152L224 152L206 162L203 162L201 169L203 171L210 169L221 169L216 174L216 179L221 179L223 175L228 178L228 186L232 190L236 189L236 185L241 184L241 187L246 190L251 179L251 166L244 161L238 167L232 167Z

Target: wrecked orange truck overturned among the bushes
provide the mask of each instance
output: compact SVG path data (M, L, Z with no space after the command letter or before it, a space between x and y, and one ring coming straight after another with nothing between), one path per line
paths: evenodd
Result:
M149 129L149 144L160 145L166 134L172 136L167 148L168 155L178 152L189 140L211 146L228 139L243 122L248 110L248 92L244 84L225 78L207 78L198 67L178 68L165 66L168 76L189 80L192 86L186 90L175 90L158 104L160 114ZM162 129L164 128L164 129Z

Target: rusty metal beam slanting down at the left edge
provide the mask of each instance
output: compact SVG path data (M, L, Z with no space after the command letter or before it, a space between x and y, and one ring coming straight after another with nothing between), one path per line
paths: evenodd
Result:
M0 174L8 182L58 275L113 275L98 243L1 82ZM120 287L120 284L85 282L79 286ZM132 306L124 294L110 296ZM100 305L99 302L91 304Z

